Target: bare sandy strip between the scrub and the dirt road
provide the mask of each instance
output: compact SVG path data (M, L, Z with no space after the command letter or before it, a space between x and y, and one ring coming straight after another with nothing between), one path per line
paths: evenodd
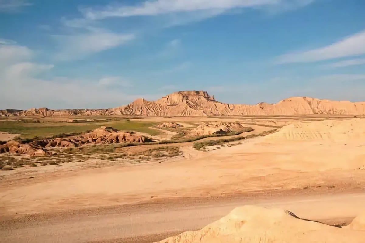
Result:
M191 150L190 156L172 162L55 171L32 179L5 178L0 184L0 213L365 185L365 170L358 169L365 161L361 146L317 142L263 145L262 139L211 152Z

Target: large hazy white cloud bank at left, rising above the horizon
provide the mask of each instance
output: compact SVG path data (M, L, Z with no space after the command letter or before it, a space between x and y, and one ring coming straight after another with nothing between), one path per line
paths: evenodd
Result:
M1 57L4 53L7 57L11 53L16 55L11 62L2 62L0 66L0 109L44 106L53 109L110 108L139 97L155 98L154 95L133 95L117 89L115 85L124 86L124 90L129 85L121 77L100 80L42 78L53 65L31 62L32 51L27 47L11 46L11 51L4 51L4 47L9 46L0 46Z

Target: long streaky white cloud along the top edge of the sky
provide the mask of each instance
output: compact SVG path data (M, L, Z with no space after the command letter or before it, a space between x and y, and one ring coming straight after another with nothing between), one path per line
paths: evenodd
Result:
M108 17L156 16L214 9L280 7L281 5L287 8L288 3L302 6L311 2L311 0L155 0L144 1L134 6L107 5L103 8L81 8L80 11L87 19L97 20Z

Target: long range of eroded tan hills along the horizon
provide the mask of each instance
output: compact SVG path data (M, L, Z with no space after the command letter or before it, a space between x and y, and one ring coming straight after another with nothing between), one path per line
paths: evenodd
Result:
M364 115L365 102L331 101L310 97L291 97L276 104L235 105L221 103L206 91L179 91L156 101L137 99L126 106L112 109L0 110L0 116L61 116L61 115L142 115L142 116L214 116L214 115L303 115L351 114Z

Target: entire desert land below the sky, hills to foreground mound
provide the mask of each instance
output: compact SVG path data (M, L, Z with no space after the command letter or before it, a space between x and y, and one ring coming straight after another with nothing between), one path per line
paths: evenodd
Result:
M2 110L1 242L364 242L364 137L308 97Z

